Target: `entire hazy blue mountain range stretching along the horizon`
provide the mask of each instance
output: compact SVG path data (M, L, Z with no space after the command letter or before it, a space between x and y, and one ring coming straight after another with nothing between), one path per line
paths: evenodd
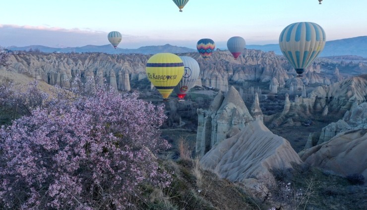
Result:
M104 52L108 54L155 54L159 52L171 52L171 53L186 53L196 52L196 49L188 47L173 46L171 44L165 44L161 46L142 46L137 49L123 49L116 48L111 44L107 45L86 45L81 47L47 47L42 45L31 45L24 47L9 46L10 50L15 51L42 51L42 52ZM247 49L259 49L264 52L274 51L277 55L282 55L278 44L265 44L265 45L246 45ZM339 56L339 55L357 55L367 58L367 36L348 38L342 40L327 41L324 50L321 52L321 57L327 56Z

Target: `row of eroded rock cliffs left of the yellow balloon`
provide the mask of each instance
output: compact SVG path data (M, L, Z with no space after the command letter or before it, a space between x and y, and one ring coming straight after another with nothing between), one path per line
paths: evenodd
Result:
M69 87L72 79L94 79L96 84L111 84L119 90L130 89L130 79L144 79L149 55L92 54L12 54L10 69L43 80L51 85Z

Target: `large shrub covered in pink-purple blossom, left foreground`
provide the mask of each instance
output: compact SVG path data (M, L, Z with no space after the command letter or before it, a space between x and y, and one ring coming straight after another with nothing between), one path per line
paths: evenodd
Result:
M1 209L122 210L140 184L170 184L155 156L163 105L106 86L56 95L0 129Z

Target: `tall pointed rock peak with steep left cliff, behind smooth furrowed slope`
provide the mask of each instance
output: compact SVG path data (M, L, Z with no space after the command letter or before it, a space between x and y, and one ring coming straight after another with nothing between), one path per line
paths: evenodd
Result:
M197 109L197 115L196 153L201 156L253 121L239 92L233 86L225 95L219 92L208 110Z

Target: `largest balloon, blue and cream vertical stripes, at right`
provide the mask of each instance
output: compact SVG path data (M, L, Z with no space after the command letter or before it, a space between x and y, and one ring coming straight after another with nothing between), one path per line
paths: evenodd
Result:
M292 23L280 33L279 46L297 72L297 77L321 53L325 46L325 32L311 22Z

